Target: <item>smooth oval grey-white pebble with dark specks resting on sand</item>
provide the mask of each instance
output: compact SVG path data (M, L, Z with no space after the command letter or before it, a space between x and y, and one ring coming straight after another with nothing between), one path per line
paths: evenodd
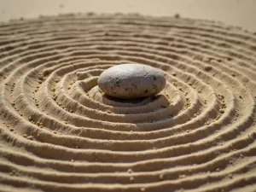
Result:
M166 79L157 68L121 64L104 71L98 79L98 86L108 96L131 99L154 96L166 87Z

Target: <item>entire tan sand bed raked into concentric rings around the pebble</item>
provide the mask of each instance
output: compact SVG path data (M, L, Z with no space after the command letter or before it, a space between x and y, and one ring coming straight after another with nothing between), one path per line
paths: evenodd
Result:
M103 96L143 63L157 96ZM256 191L256 35L207 20L61 15L0 25L0 191Z

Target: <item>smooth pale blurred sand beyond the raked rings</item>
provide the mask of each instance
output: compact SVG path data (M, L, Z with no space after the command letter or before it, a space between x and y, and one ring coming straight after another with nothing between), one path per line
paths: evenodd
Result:
M0 21L71 12L179 14L256 32L256 0L0 0Z

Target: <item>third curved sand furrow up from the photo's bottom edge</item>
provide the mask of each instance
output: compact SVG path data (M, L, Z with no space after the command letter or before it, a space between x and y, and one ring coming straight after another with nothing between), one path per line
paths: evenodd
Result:
M253 138L251 139L253 140ZM252 141L251 141L252 143ZM221 145L223 146L223 145ZM225 152L230 151L230 154L225 153L223 156L219 157L217 154L214 154L216 157L216 160L207 161L207 158L204 158L204 161L202 161L202 156L197 157L197 160L193 161L193 167L190 166L191 161L189 159L182 160L179 158L180 166L173 169L173 166L178 165L176 160L147 160L144 162L137 162L137 163L98 163L93 162L89 163L87 162L84 164L81 161L75 161L70 162L69 160L63 161L63 160L45 160L40 159L33 155L25 155L20 154L17 152L10 152L10 151L2 151L4 152L3 155L5 158L15 162L17 165L25 165L25 166L38 166L39 168L43 167L50 167L51 169L55 169L57 171L61 172L87 172L87 173L104 173L104 172L113 172L113 170L118 172L127 172L128 169L133 170L132 172L165 172L165 170L170 167L170 170L173 172L187 172L186 170L194 170L195 172L198 172L198 167L202 167L202 170L207 169L207 171L215 172L217 168L221 167L228 167L229 164L233 164L234 160L233 158L238 158L240 160L246 159L246 157L252 157L255 154L255 146L249 146L248 148L244 148L247 146L247 143L245 145L241 145L242 148L241 151L233 150L233 148L230 148L230 144L225 145ZM228 148L227 148L228 147ZM224 148L224 147L218 147L218 148ZM212 152L208 153L212 154ZM230 156L233 155L233 156ZM238 161L238 163L240 162ZM183 166L181 166L183 165ZM230 166L229 166L230 167Z

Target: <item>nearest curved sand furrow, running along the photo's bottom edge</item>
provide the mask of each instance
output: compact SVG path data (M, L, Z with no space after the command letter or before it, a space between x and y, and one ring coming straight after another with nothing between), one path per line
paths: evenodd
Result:
M204 189L204 181L203 177L198 177L197 179L179 179L179 180L185 180L185 181L173 181L173 182L166 182L162 181L160 183L150 183L148 185L145 184L130 184L130 185L122 185L122 184L91 184L91 183L82 183L82 184L60 184L60 183L53 183L53 182L44 182L44 181L31 181L29 183L27 178L23 177L9 177L4 176L2 173L0 173L0 178L3 181L4 184L13 184L18 185L20 187L27 187L33 185L33 187L37 187L43 190L52 190L52 191L70 191L71 189L73 191L83 191L83 190L89 190L89 191L145 191L147 189L148 191L154 191L155 189L161 189L161 191L169 191L170 188L172 189L183 189L182 186L186 186L187 189L196 189L196 184L201 183L202 191L216 191L216 189L236 189L239 186L247 186L250 184L255 183L256 177L252 172L246 172L247 175L245 177L242 177L239 175L238 177L229 180L226 182L225 177L222 181L222 183L218 182L218 178L211 176L208 177L208 180L210 180L212 183L218 183L218 187L216 187L216 184L209 183L209 185ZM196 182L194 182L194 180ZM212 186L213 185L213 186Z

